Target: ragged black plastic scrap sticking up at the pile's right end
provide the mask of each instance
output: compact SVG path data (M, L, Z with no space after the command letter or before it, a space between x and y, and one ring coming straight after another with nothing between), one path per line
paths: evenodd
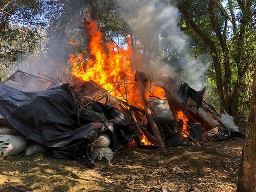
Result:
M191 99L196 101L198 105L202 105L205 88L206 87L204 87L201 91L196 91L189 87L189 84L182 81L179 89L180 98L185 104L187 103L188 98L190 97Z

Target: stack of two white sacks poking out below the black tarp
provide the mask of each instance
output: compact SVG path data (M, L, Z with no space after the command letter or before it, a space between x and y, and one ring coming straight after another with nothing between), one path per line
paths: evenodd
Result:
M90 157L95 160L102 160L105 157L109 162L113 160L113 151L108 146L111 143L111 139L107 134L99 134L97 139L93 142L93 147L89 151Z

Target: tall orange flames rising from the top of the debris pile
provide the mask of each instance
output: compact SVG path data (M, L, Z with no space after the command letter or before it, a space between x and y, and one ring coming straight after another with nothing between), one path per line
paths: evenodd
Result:
M142 107L138 82L134 81L135 75L131 69L131 38L127 38L126 48L118 47L115 43L103 41L103 34L97 28L96 21L89 22L84 19L84 28L88 29L92 57L84 59L82 53L77 56L70 54L72 75L84 81L93 80L111 95L123 100L121 95L125 96L125 87L122 82L128 82L126 87L131 105ZM117 85L119 86L116 87ZM165 98L164 90L160 87L154 86L151 92L155 96Z

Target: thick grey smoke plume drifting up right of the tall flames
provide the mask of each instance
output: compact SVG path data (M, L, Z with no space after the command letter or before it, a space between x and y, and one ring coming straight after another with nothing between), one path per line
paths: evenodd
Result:
M136 70L153 74L156 81L162 75L178 76L196 90L206 85L207 55L191 56L192 41L178 27L180 12L176 7L155 0L118 0L116 5L118 14L137 35L137 47L144 50L137 50L141 54L135 55ZM162 54L156 54L160 51ZM163 51L168 53L166 62L160 57Z

